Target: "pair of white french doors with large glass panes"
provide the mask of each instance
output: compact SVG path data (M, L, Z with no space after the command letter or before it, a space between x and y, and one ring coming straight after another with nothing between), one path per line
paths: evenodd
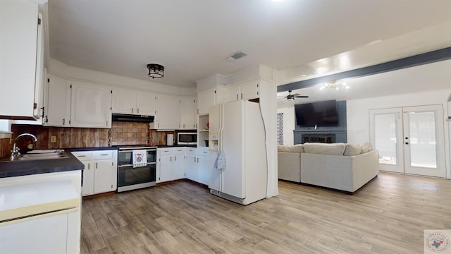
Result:
M371 109L369 114L379 169L446 177L442 105Z

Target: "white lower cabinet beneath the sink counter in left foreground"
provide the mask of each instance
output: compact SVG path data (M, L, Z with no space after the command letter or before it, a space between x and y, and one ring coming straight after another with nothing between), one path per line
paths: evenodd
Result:
M0 253L80 253L80 185L80 170L0 179Z

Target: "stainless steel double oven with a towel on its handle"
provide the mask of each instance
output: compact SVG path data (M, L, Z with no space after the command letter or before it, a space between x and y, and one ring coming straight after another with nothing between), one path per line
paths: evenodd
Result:
M133 150L146 150L147 164L133 167ZM119 147L118 192L156 185L156 147Z

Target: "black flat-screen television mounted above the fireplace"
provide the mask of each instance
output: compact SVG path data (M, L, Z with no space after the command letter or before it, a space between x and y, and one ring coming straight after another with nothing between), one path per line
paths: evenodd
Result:
M295 104L298 126L338 126L337 101Z

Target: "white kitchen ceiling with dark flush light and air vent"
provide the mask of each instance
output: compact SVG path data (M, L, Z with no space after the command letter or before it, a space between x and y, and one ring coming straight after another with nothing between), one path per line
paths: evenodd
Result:
M451 46L450 0L49 0L50 56L195 87L264 64L278 85ZM248 56L226 61L235 52ZM302 76L302 75L305 76Z

